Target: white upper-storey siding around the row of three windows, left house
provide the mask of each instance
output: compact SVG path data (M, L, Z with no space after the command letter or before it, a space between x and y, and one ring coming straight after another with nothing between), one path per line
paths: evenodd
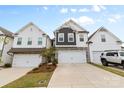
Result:
M22 38L22 44L17 45L18 38ZM28 38L32 39L32 45L28 45ZM42 45L38 45L38 38L42 38ZM46 35L43 35L39 29L37 29L35 26L31 25L27 28L25 28L23 31L21 31L18 35L14 38L13 48L44 48L46 47L46 43L50 47L50 39L47 39L48 37Z

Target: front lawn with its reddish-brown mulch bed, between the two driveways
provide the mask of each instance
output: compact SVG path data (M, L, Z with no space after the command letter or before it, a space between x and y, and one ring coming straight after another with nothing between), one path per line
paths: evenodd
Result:
M3 86L2 88L47 87L53 71L56 67L49 66L49 69L46 68L46 70L45 67L46 65L42 65L39 68L35 68L27 73L25 76Z

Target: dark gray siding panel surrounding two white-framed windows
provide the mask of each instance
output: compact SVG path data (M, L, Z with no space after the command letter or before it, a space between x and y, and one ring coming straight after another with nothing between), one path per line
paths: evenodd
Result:
M64 42L58 42L58 33L64 33ZM68 42L68 33L74 33L74 42ZM76 45L76 34L71 28L62 28L56 32L56 45Z

